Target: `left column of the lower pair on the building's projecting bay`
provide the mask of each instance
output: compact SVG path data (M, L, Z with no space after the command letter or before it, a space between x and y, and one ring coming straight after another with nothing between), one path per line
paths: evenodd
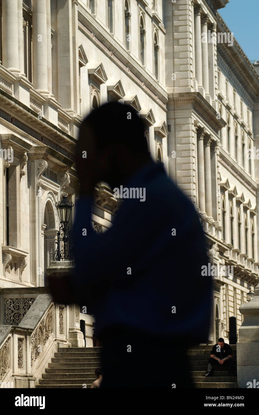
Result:
M206 212L205 207L205 178L204 178L204 134L205 129L196 124L197 132L197 167L198 167L198 195L199 209Z

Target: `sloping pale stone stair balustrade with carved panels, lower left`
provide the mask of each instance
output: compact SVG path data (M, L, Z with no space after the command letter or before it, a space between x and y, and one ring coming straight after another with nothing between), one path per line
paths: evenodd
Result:
M58 347L71 347L68 312L40 294L18 326L0 325L0 387L35 387Z

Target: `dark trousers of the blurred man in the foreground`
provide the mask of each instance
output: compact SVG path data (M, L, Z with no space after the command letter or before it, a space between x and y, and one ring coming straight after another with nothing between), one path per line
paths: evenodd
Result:
M103 344L101 388L192 388L183 345L163 337L117 327ZM177 341L178 342L178 341Z

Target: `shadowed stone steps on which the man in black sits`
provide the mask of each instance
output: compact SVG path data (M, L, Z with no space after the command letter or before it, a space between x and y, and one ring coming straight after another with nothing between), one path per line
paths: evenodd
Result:
M213 376L205 376L212 345L191 346L187 350L194 388L237 388L237 346L236 344L230 344L230 347L235 362L235 376L228 376L228 371L224 366L215 366Z

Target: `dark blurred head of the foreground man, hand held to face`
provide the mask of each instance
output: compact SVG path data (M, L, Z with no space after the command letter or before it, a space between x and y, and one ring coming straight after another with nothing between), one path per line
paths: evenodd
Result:
M144 122L129 105L107 103L91 112L82 122L76 151L81 191L98 181L119 186L150 163L144 134Z

